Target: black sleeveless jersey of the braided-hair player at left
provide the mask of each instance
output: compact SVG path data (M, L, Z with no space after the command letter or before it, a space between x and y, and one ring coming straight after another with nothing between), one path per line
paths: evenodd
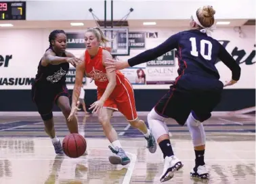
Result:
M51 47L49 47L49 49L51 49ZM61 57L66 57L66 54L63 53ZM66 84L66 74L68 73L68 70L69 70L68 63L62 63L58 65L48 64L47 66L42 66L41 62L42 62L42 59L40 60L39 66L37 68L35 85L59 86L59 85Z

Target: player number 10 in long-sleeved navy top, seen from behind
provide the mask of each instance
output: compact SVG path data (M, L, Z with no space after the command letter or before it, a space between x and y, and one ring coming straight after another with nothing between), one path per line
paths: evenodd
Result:
M204 161L205 130L202 122L211 117L211 112L221 100L223 87L234 85L240 78L240 67L234 58L217 40L207 35L214 24L214 14L213 7L200 7L192 14L190 30L174 34L161 45L144 51L127 62L109 60L106 63L112 64L108 68L121 70L154 60L177 49L179 76L148 114L148 124L165 158L161 182L173 178L174 172L183 166L173 154L165 124L169 118L175 119L182 126L186 123L190 131L196 154L195 166L190 175L201 179L209 178ZM219 80L219 73L215 68L217 58L232 71L232 80L226 85Z

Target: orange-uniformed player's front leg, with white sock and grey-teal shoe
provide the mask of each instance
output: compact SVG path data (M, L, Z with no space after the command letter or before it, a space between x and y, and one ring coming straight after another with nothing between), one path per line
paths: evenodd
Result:
M112 147L109 146L110 150L115 154L110 156L108 160L111 164L121 164L127 165L131 162L125 151L123 150L121 143L118 139L118 135L115 129L110 124L110 118L112 117L113 109L110 108L102 108L100 112L98 112L98 119L100 124L102 124L102 128L104 133L110 143L112 143Z

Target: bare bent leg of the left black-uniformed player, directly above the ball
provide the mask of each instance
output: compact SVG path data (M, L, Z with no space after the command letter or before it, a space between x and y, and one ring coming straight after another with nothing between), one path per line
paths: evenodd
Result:
M60 96L57 99L57 104L60 110L62 110L62 114L66 118L66 124L68 126L68 130L70 131L70 133L78 133L77 117L74 116L72 120L68 121L68 116L71 112L69 98L66 95Z

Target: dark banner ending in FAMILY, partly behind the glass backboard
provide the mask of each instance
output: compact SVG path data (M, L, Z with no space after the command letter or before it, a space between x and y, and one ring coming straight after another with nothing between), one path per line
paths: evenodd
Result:
M126 32L118 32L117 48L124 49L126 43ZM144 49L146 43L146 32L129 32L128 41L130 49Z

